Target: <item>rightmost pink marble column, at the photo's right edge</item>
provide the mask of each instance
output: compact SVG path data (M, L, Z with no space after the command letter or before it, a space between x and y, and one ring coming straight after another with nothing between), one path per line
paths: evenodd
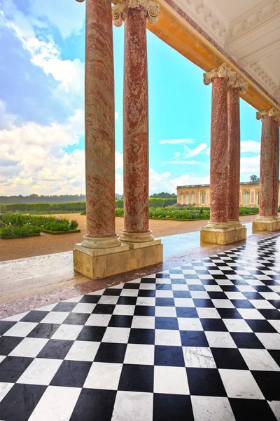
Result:
M277 215L279 189L279 123L262 115L260 143L260 210L262 218Z

